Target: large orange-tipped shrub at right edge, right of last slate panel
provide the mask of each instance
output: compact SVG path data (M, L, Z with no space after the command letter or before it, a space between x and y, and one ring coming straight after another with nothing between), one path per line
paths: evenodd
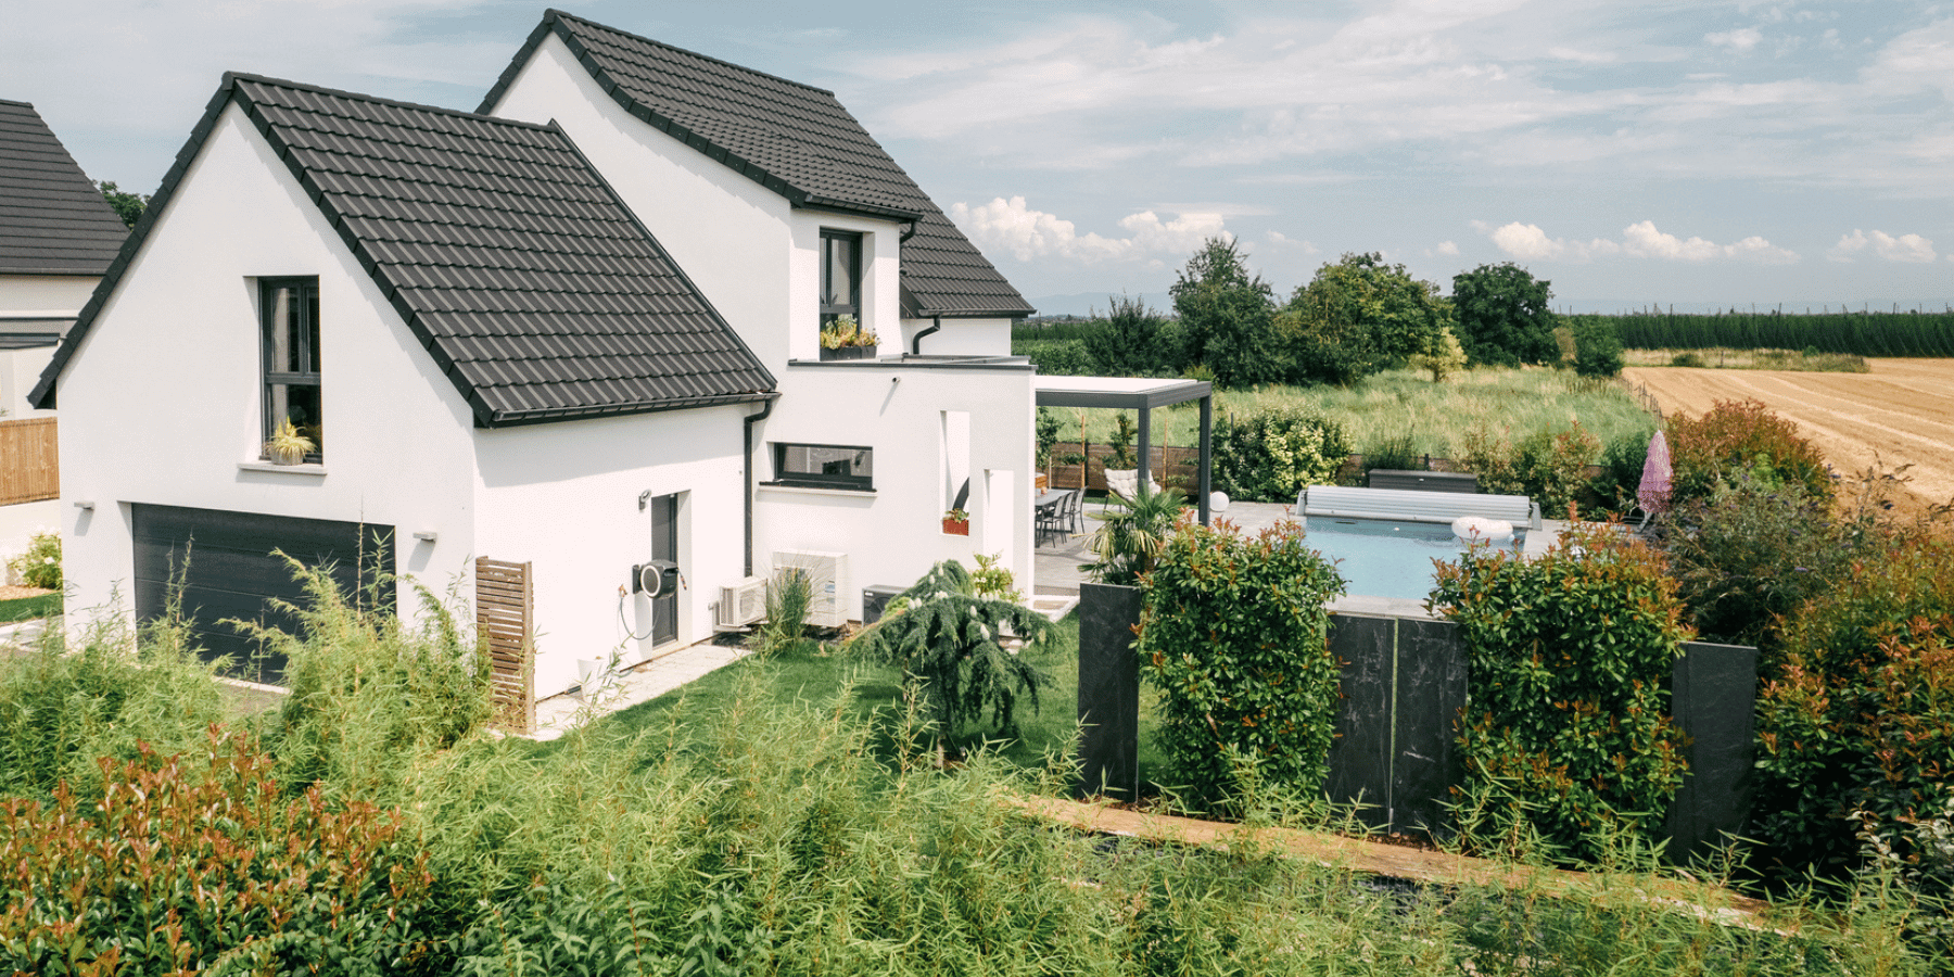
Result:
M1784 621L1759 696L1751 836L1766 871L1860 866L1852 811L1936 813L1954 770L1954 543L1911 537L1837 573Z

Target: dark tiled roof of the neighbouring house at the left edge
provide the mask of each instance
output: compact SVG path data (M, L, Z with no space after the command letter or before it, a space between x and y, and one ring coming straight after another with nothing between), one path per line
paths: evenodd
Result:
M125 236L41 113L0 98L0 274L100 276Z

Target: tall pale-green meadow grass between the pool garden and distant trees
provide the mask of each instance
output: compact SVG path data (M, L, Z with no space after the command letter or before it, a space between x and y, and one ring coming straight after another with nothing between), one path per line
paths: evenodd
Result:
M1409 438L1415 453L1456 457L1467 432L1485 428L1518 442L1532 432L1559 432L1577 420L1602 444L1628 434L1647 436L1655 420L1618 383L1581 379L1565 369L1467 369L1432 383L1430 373L1393 369L1350 387L1264 385L1245 391L1215 391L1215 416L1253 414L1268 408L1301 406L1317 410L1350 436L1352 451ZM1079 440L1077 408L1053 408L1059 440ZM1086 438L1106 444L1118 410L1083 410ZM1153 412L1155 444L1194 446L1200 438L1200 406L1174 404ZM1165 432L1165 436L1163 436Z

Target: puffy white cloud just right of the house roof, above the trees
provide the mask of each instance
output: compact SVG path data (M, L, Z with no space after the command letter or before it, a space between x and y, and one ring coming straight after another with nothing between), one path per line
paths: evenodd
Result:
M1008 250L1012 258L1030 262L1034 258L1071 258L1084 264L1127 258L1149 258L1155 254L1190 254L1204 240L1227 234L1219 213L1182 213L1172 221L1161 221L1153 211L1139 211L1120 219L1126 236L1102 236L1092 231L1081 234L1077 225L1053 213L1034 211L1024 197L997 197L991 203L971 207L952 203L950 219L969 234L977 246Z

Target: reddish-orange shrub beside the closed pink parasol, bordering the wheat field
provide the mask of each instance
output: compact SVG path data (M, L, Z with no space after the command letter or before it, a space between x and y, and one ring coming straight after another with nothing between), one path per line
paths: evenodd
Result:
M1698 418L1669 418L1669 455L1675 469L1671 504L1708 496L1718 479L1737 469L1751 469L1766 483L1796 481L1805 498L1821 506L1833 500L1831 469L1819 449L1759 401L1718 401Z

